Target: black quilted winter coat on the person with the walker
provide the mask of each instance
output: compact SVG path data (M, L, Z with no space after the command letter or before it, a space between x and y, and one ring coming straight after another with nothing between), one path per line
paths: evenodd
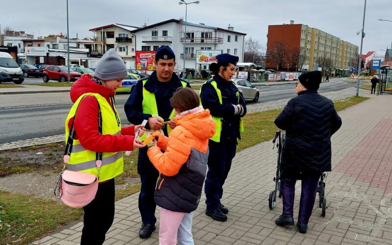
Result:
M331 171L331 136L342 125L332 100L316 90L292 98L275 119L286 130L282 174Z

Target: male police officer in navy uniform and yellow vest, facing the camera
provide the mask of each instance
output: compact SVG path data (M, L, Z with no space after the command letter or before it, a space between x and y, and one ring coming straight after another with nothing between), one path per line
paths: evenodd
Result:
M181 81L173 73L175 67L175 55L169 46L161 46L155 54L156 71L148 78L139 80L124 105L124 110L128 121L138 125L147 120L146 128L163 131L168 136L174 121L170 121L164 127L162 119L167 121L174 117L173 108L170 105L170 98L178 87L190 87ZM156 117L159 116L159 117ZM143 138L141 138L143 140ZM139 230L141 238L148 238L155 230L155 208L154 190L159 172L155 169L147 156L147 147L139 150L138 173L142 182L139 195L139 211L142 216L142 228Z

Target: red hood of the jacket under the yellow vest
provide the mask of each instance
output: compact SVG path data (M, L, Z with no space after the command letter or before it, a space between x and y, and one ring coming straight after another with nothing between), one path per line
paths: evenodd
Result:
M92 75L85 73L73 83L70 91L73 103L85 93L96 93L106 99L109 99L110 96L114 96L115 92L95 83L92 78Z

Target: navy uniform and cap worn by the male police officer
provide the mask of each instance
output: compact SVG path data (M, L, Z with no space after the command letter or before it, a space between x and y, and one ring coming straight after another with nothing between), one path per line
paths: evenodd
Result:
M158 49L156 56L158 59L172 59L174 58L174 53L172 49L168 46L161 46ZM150 114L143 113L143 80L141 79L135 86L128 100L124 105L124 110L128 121L132 124L138 125L143 122L143 120L148 120L151 117ZM182 87L181 81L178 76L173 73L172 79L168 82L160 82L157 79L156 72L153 72L148 78L144 85L144 88L155 94L155 100L157 103L158 115L167 120L172 113L172 106L170 104L170 98L172 98L174 91L178 87ZM187 84L187 87L190 87ZM163 129L166 136L168 136L167 125ZM146 128L149 129L148 124ZM156 181L159 176L159 172L152 165L147 156L147 147L139 149L138 155L138 173L141 178L141 190L139 195L139 211L142 216L142 222L144 224L155 224L155 208L156 204L154 202L154 191Z

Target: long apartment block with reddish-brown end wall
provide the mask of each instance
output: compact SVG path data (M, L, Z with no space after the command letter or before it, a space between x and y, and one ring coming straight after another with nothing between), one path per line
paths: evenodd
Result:
M278 67L279 70L299 71L301 67L318 70L325 62L330 69L344 69L358 61L358 46L317 28L294 24L294 21L290 21L290 25L268 26L267 53L276 52L277 43L280 43L279 52L284 53L284 67ZM269 56L266 68L277 69L276 59Z

